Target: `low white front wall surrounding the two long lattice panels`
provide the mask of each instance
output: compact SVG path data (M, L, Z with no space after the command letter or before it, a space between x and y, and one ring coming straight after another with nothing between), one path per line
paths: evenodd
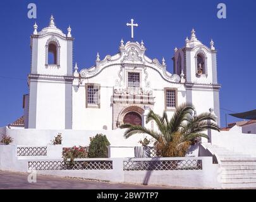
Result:
M28 172L28 161L52 161L62 158L22 157L18 160L15 145L0 145L0 170ZM111 160L111 170L37 170L37 174L61 177L80 177L110 182L130 182L159 186L178 186L193 188L220 188L219 164L212 164L212 157L157 158L157 160L202 160L202 170L123 170L123 162L149 161L155 158L85 158L76 160Z

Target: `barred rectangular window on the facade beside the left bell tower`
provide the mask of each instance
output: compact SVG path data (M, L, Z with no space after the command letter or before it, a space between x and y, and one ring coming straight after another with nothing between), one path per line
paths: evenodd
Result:
M100 107L100 85L87 83L86 88L86 107Z

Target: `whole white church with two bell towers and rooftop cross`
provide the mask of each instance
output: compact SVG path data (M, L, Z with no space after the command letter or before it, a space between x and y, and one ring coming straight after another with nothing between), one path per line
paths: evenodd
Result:
M185 46L174 49L173 74L164 58L146 56L142 42L121 40L118 53L95 65L73 62L71 28L65 34L51 16L49 26L31 35L29 93L23 98L25 129L115 130L125 122L144 125L148 109L168 115L185 102L198 113L214 110L220 124L217 51L202 44L192 30ZM81 64L78 62L79 66ZM154 129L154 122L148 123Z

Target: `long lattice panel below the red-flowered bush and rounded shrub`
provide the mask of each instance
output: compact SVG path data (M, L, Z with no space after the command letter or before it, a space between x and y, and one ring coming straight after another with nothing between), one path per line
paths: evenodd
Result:
M110 160L92 161L37 161L28 162L28 169L35 170L111 170L113 162Z

